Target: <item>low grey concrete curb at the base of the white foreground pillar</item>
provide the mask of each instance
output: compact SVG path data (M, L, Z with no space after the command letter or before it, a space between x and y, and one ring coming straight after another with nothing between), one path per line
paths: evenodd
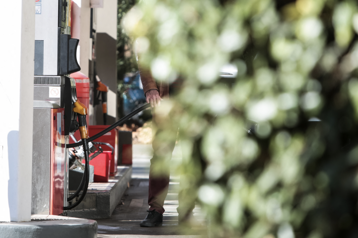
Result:
M94 220L31 215L31 222L0 223L0 238L97 238Z

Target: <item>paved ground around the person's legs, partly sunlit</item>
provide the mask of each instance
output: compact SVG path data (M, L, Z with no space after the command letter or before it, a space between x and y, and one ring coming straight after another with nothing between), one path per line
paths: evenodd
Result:
M194 209L195 216L203 223L196 229L182 229L178 226L178 177L171 176L169 192L164 204L163 226L140 227L148 210L148 172L152 150L150 145L133 146L133 176L123 203L113 212L111 219L97 220L98 238L205 238L206 221L200 208ZM177 146L173 152L172 163L180 163L181 150Z

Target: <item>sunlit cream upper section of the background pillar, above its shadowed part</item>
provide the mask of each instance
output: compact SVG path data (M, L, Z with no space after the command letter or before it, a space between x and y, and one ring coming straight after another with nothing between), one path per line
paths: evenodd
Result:
M97 32L107 33L117 39L117 0L104 0L97 9Z

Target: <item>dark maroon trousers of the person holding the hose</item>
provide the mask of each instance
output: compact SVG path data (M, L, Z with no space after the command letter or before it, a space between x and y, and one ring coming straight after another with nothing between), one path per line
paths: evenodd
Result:
M169 122L169 123L168 123ZM164 213L164 200L168 194L170 178L170 160L175 147L179 126L169 116L156 113L153 110L153 133L152 147L153 158L150 160L149 170L149 210ZM195 198L188 196L190 191L180 189L178 213L192 212L195 207Z

